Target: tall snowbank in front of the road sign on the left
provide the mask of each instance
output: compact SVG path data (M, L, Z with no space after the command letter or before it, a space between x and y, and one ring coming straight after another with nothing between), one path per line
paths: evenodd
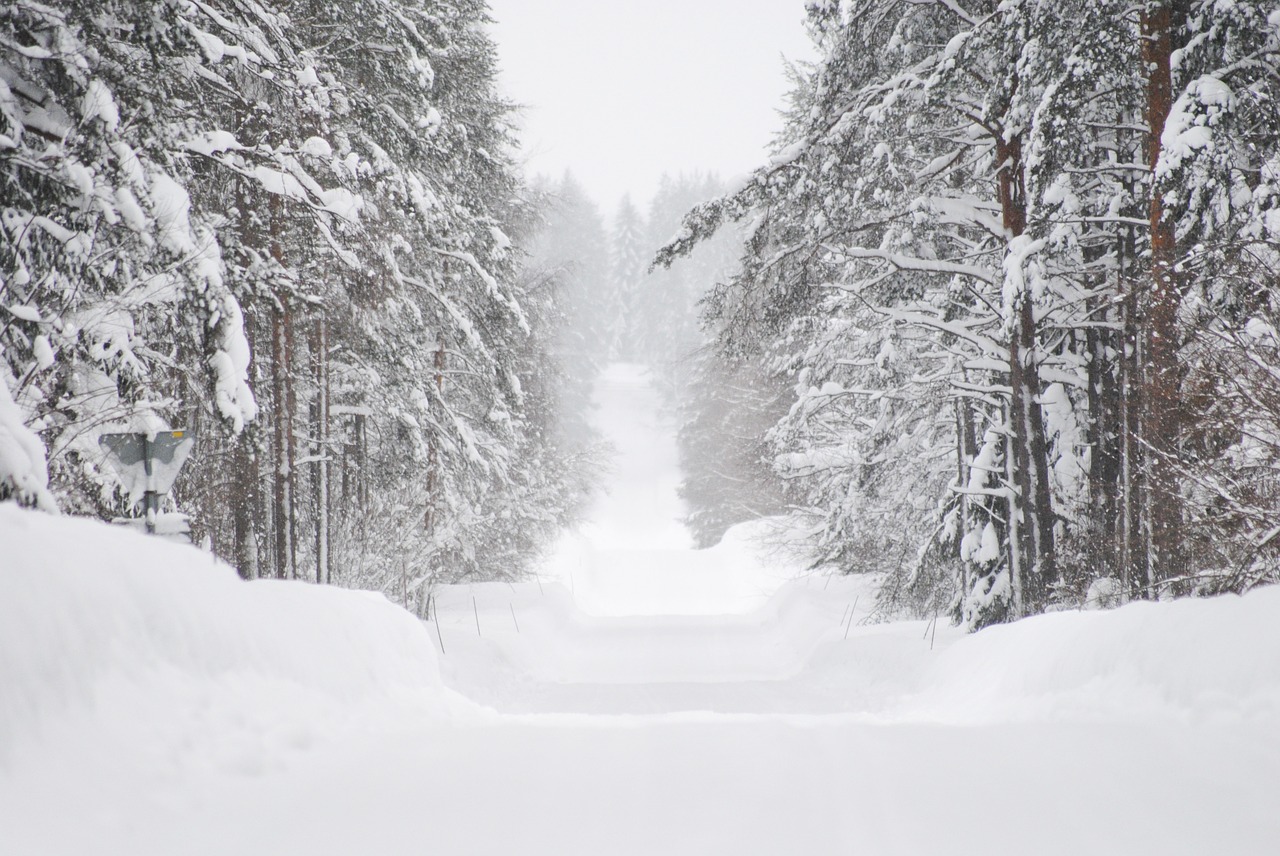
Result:
M425 628L380 595L246 583L189 546L0 504L0 772L86 728L234 733L257 763L273 734L442 699Z

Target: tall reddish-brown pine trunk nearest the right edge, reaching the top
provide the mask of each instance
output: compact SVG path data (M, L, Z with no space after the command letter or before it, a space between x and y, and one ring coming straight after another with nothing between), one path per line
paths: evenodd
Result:
M1161 578L1178 577L1184 572L1183 509L1176 472L1181 434L1178 369L1180 289L1174 269L1178 242L1156 179L1161 136L1172 107L1171 56L1171 4L1167 0L1148 0L1142 17L1142 59L1147 69L1147 162L1151 168L1151 292L1143 330L1147 371L1142 427L1147 454L1152 586Z

